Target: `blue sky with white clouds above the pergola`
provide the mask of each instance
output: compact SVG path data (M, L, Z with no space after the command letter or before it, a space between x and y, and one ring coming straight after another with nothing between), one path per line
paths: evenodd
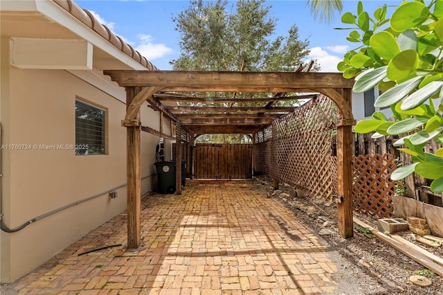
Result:
M180 55L179 33L175 30L173 16L188 7L189 1L135 1L135 0L89 0L75 1L81 8L93 14L108 26L116 35L140 51L150 62L161 70L170 70L170 60L177 59ZM397 6L401 1L363 1L363 8L372 12L387 3ZM357 1L343 1L344 12L356 14ZM320 62L323 72L336 70L336 64L343 59L343 53L355 48L346 40L348 30L335 30L343 28L341 15L336 15L332 24L321 24L315 20L307 7L306 0L280 0L266 1L271 5L271 17L278 19L276 35L287 35L293 24L298 27L300 39L309 39L311 49L310 59ZM230 1L228 7L234 6L235 1ZM388 13L394 7L388 8Z

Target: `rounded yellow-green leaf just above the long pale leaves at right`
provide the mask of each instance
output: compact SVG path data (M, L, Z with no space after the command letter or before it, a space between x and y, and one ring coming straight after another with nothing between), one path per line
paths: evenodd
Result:
M388 64L386 74L390 80L404 80L413 73L418 66L418 55L415 50L401 51Z

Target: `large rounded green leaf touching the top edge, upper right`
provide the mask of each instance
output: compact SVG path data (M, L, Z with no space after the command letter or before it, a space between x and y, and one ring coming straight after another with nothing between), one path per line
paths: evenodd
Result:
M403 3L390 18L390 27L397 32L415 28L428 19L429 10L424 3L413 1Z

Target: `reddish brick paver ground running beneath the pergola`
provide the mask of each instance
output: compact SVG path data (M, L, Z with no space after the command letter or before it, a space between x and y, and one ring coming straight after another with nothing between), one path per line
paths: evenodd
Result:
M325 247L254 181L187 181L142 200L142 241L126 214L15 284L19 294L325 294L338 284ZM79 253L112 244L101 251Z

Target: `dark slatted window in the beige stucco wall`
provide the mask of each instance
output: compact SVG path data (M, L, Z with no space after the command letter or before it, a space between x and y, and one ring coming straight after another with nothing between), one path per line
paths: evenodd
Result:
M105 154L106 111L75 100L75 154Z

